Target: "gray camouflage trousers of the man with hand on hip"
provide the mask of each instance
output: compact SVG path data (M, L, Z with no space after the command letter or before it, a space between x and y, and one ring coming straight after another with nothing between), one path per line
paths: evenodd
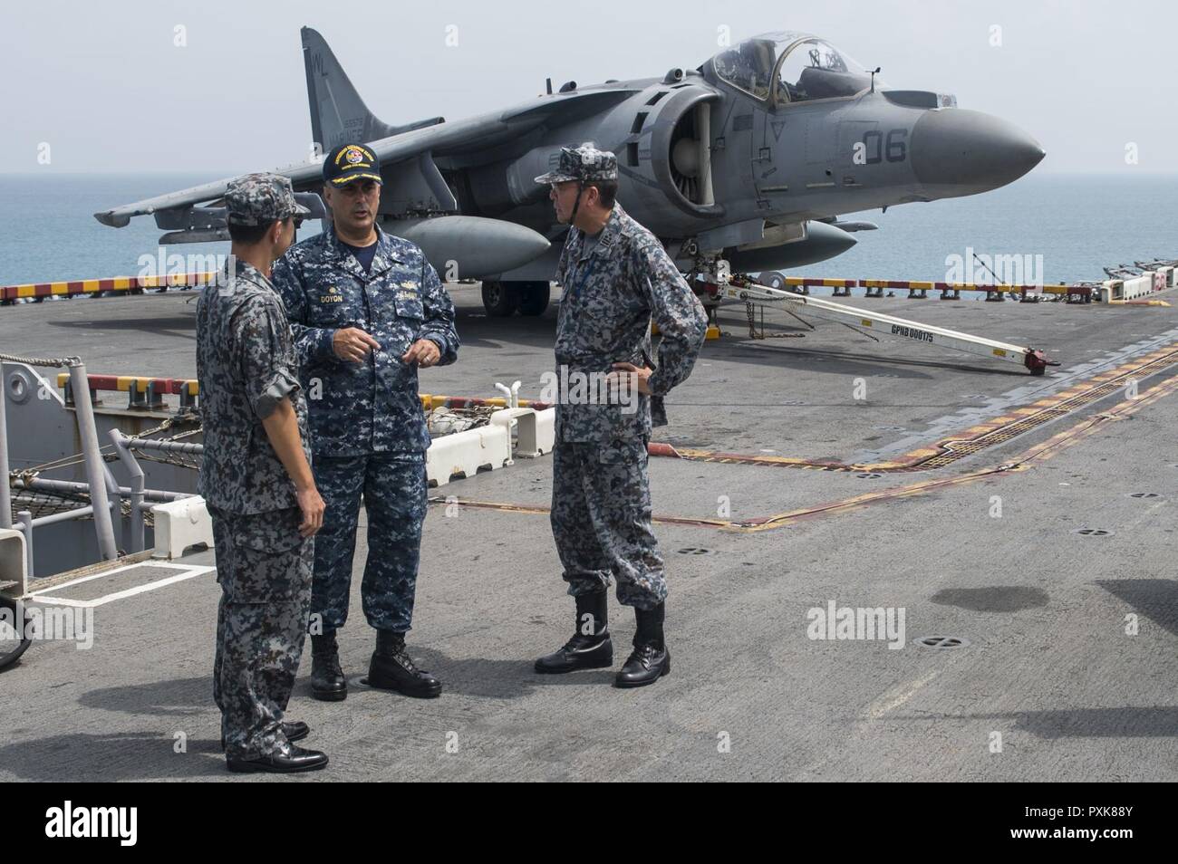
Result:
M605 591L650 609L667 598L659 541L650 527L647 441L614 446L557 441L552 450L552 539L569 593Z

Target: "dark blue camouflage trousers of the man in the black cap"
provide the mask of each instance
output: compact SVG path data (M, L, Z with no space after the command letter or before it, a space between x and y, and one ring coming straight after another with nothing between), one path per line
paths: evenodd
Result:
M323 632L330 633L348 620L363 498L368 514L368 560L360 583L364 617L377 630L408 632L413 620L428 500L425 453L317 456L313 468L315 484L327 509L323 527L315 537L312 627L319 620Z

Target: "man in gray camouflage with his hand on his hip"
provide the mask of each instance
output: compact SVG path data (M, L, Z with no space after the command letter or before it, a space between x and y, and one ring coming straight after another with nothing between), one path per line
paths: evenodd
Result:
M613 664L607 622L613 576L617 599L637 617L634 651L615 684L654 684L670 671L670 651L663 637L667 580L650 526L647 443L651 426L666 423L663 397L691 372L707 315L657 238L615 202L613 153L591 144L565 147L556 171L536 182L551 185L556 218L570 225L556 268L564 287L557 377L570 386L557 399L551 524L577 606L573 638L536 660L536 671ZM654 365L651 320L662 332ZM591 385L577 392L575 379L583 384L594 375L609 375L614 398L594 398L585 392Z

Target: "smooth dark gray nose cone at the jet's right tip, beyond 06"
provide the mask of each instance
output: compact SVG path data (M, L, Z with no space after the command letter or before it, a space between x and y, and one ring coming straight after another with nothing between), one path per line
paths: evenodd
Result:
M997 190L1045 155L1018 126L979 111L929 111L912 128L913 172L938 198Z

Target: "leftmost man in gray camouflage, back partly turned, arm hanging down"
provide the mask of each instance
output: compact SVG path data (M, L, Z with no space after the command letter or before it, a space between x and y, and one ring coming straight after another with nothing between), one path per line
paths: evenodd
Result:
M225 205L229 270L197 304L199 491L221 586L213 696L231 771L310 771L327 757L291 744L310 730L283 712L303 653L323 499L290 325L267 278L307 210L273 174L231 181Z

